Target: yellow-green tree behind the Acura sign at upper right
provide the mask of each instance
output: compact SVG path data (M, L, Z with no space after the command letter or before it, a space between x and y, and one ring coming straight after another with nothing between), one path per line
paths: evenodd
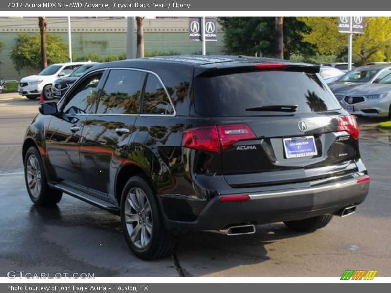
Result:
M304 41L316 46L320 54L346 54L348 34L339 33L337 17L300 17L310 30L302 32ZM353 35L353 54L364 65L369 61L389 59L391 43L391 17L366 17L364 34Z

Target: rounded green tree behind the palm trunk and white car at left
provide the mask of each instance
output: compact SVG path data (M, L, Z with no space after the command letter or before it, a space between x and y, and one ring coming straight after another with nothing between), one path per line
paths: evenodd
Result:
M46 34L47 63L61 63L68 61L68 45L63 39L54 34ZM41 68L41 36L40 34L18 34L10 58L16 70Z

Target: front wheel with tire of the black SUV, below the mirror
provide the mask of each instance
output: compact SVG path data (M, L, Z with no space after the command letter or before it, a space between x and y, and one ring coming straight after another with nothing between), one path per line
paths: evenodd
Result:
M24 179L31 201L37 206L50 206L57 204L62 192L47 185L41 154L31 146L24 159Z

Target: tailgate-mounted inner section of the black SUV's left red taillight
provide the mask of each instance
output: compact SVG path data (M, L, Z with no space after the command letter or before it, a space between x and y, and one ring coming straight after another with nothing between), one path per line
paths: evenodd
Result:
M223 150L232 146L240 140L256 138L253 131L246 124L229 124L217 126L218 136L220 137L221 148Z

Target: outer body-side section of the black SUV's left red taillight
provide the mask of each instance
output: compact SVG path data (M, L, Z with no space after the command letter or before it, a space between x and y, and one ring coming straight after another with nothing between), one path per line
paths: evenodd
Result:
M182 146L220 152L216 126L204 126L185 130L182 136Z

